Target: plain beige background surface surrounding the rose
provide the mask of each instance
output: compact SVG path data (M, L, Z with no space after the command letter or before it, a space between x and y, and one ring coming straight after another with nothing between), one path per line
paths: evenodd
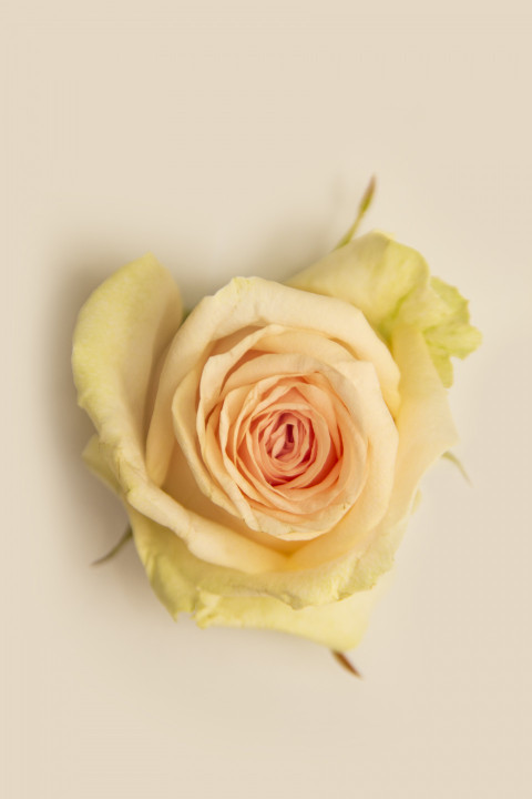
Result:
M526 3L20 1L3 11L2 796L529 796ZM79 306L152 250L188 303L367 227L471 297L458 449L354 659L174 625L79 454ZM3 190L7 189L7 192Z

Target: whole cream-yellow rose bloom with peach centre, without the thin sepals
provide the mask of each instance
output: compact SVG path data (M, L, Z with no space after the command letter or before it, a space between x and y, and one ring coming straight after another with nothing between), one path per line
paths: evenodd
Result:
M89 299L86 462L174 617L354 647L420 477L457 441L449 357L479 343L466 301L371 233L288 285L236 277L182 320L151 255Z

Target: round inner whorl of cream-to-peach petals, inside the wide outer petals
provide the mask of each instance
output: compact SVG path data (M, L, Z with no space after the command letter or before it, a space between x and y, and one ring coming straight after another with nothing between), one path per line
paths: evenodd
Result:
M368 380L378 387L371 364L321 334L248 327L181 382L175 436L212 502L257 533L316 538L364 496L380 457L367 424L389 413L381 396L368 406Z

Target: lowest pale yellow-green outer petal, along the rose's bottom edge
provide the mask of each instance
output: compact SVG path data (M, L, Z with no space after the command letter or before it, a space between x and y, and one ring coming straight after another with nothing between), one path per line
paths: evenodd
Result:
M135 544L150 581L174 618L192 613L201 627L223 625L275 629L346 650L357 646L386 580L371 590L321 607L295 610L279 599L247 594L221 595L208 590L202 573L211 567L195 558L170 530L130 510Z

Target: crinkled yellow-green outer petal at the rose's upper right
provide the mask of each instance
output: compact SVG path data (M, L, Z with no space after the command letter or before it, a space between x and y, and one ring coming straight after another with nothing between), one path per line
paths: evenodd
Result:
M452 383L450 356L466 357L481 342L459 291L431 277L416 250L385 233L368 233L335 250L288 285L351 303L387 343L396 325L417 327L446 386Z

